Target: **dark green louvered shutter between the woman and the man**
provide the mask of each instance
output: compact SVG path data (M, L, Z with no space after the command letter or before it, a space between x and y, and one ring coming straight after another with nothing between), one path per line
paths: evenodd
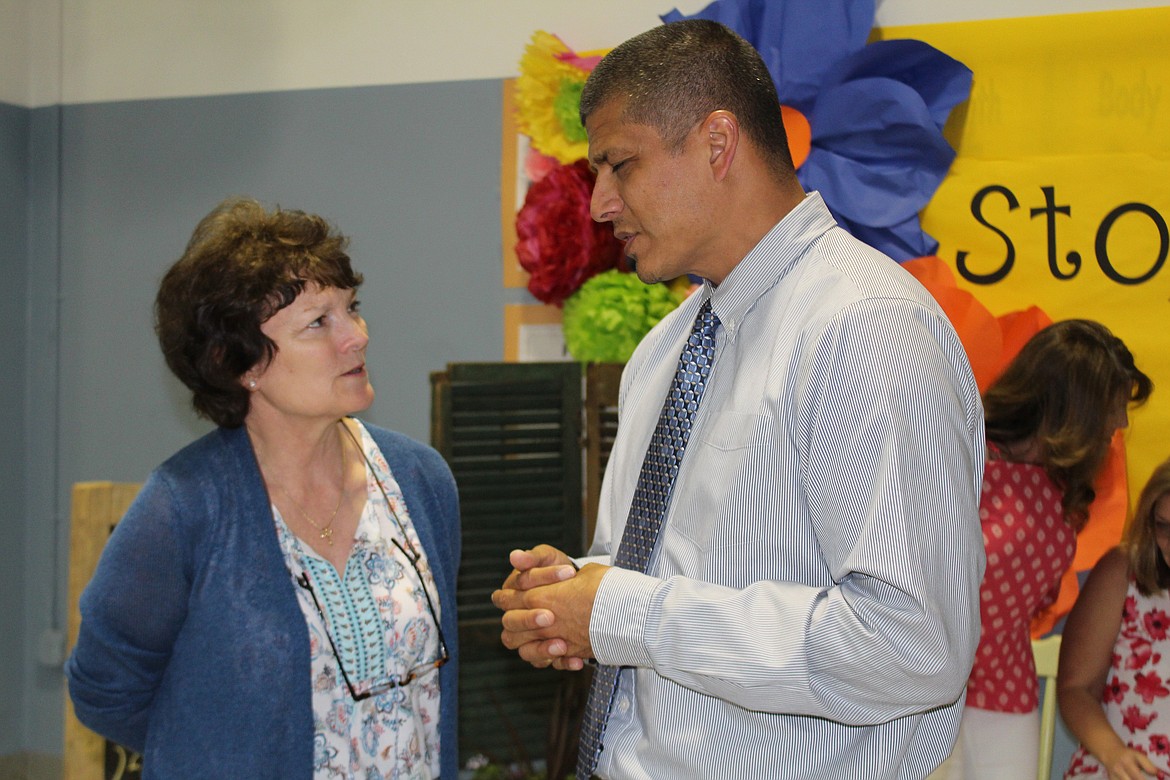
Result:
M511 571L511 550L543 541L583 551L581 370L452 364L432 375L432 442L455 474L463 525L460 764L476 753L543 759L566 675L534 669L500 643L490 594Z

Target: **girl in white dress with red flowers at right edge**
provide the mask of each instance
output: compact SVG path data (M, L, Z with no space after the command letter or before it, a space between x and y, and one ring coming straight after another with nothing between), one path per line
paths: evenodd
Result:
M1080 739L1066 778L1170 778L1170 461L1065 626L1060 713Z

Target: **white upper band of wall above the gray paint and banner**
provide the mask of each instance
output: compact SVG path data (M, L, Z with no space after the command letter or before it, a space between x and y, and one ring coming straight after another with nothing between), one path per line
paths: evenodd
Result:
M676 5L694 13L707 0ZM878 23L1161 5L1168 4L878 0ZM578 50L611 47L658 25L672 7L670 0L0 0L0 101L39 106L500 78L516 74L536 29Z

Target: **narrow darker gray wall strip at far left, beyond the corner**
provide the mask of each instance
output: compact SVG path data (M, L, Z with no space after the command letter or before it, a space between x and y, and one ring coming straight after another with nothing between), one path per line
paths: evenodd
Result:
M25 299L28 260L29 111L0 103L0 755L20 750L25 691Z

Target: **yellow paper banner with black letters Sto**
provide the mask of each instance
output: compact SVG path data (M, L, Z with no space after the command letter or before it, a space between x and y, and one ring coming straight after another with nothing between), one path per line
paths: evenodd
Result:
M1170 457L1170 8L876 30L975 73L958 151L922 214L961 288L994 315L1104 323L1155 382L1130 415L1136 496Z

